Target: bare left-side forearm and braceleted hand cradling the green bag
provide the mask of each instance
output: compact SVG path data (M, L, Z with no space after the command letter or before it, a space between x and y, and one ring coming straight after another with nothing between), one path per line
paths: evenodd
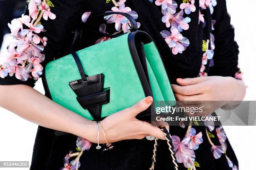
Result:
M72 133L97 143L97 127L94 121L56 104L30 86L0 85L0 94L0 107L43 127ZM136 119L139 113L148 109L152 101L153 98L148 96L134 106L113 113L104 119L101 123L108 141L143 139L148 134L165 140L158 127ZM105 143L102 131L100 131L99 140L100 143Z

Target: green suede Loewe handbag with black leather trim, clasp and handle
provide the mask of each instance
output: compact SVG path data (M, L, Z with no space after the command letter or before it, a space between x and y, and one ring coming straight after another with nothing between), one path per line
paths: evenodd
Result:
M136 30L136 21L130 15L107 14L124 15L131 22L131 32L47 63L46 93L56 103L90 120L102 120L146 96L154 101L175 102L152 38ZM154 104L138 118L146 119L153 112Z

